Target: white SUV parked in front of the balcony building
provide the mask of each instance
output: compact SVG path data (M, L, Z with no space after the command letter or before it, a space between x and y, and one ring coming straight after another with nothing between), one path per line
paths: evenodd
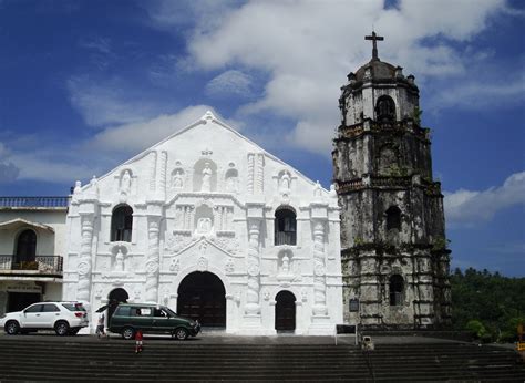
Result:
M52 329L61 337L74 335L87 324L87 312L80 302L39 302L0 318L0 327L10 335Z

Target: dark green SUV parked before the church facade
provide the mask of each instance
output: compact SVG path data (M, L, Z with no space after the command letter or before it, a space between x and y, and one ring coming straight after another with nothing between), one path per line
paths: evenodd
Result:
M144 333L169 333L184 340L200 331L198 321L178 317L165 306L150 303L121 303L110 319L109 330L134 339L137 330Z

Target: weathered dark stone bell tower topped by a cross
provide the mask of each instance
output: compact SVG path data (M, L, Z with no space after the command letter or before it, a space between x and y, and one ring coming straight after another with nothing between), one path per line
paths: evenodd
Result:
M414 76L378 56L339 99L333 180L341 206L344 320L366 329L441 329L451 321L441 184Z

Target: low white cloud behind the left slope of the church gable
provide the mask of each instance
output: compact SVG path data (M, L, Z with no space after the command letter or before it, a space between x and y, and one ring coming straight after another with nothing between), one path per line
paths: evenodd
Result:
M92 138L69 143L69 151L56 148L52 139L42 143L31 135L17 136L11 142L13 148L0 142L0 184L16 179L70 184L87 180L194 123L208 110L231 127L241 127L239 122L223 118L210 106L196 105L144 122L106 127Z

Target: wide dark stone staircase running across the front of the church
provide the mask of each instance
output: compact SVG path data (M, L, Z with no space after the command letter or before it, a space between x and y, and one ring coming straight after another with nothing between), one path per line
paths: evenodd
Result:
M467 343L265 344L256 341L134 342L93 337L0 337L0 381L524 382L517 353Z

